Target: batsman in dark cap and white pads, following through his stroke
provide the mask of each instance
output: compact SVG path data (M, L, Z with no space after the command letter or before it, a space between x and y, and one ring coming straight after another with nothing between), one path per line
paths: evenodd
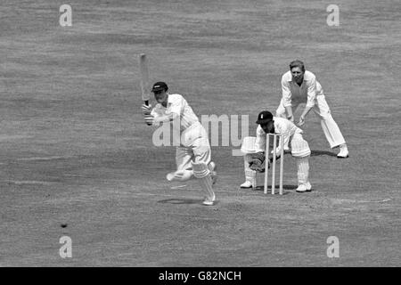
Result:
M184 182L192 177L196 178L206 196L202 204L214 205L216 165L210 159L210 144L205 128L182 95L168 93L165 82L156 82L151 92L157 104L153 109L151 105L142 105L145 123L149 126L172 124L173 135L179 136L173 138L180 142L176 147L176 172L167 175L168 181Z

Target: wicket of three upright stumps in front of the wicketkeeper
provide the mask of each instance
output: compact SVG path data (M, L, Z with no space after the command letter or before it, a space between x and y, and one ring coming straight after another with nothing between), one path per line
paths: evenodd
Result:
M266 167L265 167L265 188L264 193L267 194L267 182L268 182L268 158L269 158L269 144L270 144L270 136L273 136L273 163L272 163L272 194L274 194L275 187L275 161L277 157L277 137L279 138L280 144L280 185L279 185L279 193L282 195L282 175L284 170L284 138L281 134L266 134Z

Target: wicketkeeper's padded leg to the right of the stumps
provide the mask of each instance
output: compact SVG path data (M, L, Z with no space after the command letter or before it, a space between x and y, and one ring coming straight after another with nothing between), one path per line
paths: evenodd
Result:
M302 134L296 133L291 139L291 154L297 161L298 188L297 191L310 191L309 183L309 156L310 149Z

